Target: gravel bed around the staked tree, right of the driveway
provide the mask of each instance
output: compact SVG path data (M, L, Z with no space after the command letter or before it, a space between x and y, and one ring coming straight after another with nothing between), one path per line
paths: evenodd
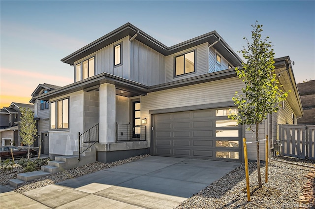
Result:
M287 158L282 160L301 162ZM311 160L303 161L304 165L309 166L315 166L314 163L315 161ZM249 170L251 202L247 201L245 167L241 165L184 201L176 209L303 209L313 208L315 205L312 203L315 182L314 177L311 177L314 172L310 168L269 161L268 182L264 183L265 164L261 164L263 187L259 189L255 162L249 163ZM312 174L308 174L310 172Z

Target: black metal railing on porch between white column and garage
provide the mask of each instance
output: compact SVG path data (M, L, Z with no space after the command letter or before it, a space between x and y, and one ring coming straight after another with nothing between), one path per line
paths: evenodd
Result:
M147 135L146 127L146 125L116 123L116 142L145 141Z

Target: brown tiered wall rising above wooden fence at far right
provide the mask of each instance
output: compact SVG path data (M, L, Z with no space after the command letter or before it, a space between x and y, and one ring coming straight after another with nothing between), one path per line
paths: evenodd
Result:
M297 124L315 125L315 80L297 84L304 115Z

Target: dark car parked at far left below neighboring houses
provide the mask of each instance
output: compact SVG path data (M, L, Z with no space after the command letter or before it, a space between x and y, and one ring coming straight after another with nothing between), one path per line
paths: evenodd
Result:
M1 159L12 158L11 149L12 149L14 158L28 157L27 148L18 148L15 146L3 146L3 147L0 147L0 158ZM30 149L30 158L37 154L38 153L35 149Z

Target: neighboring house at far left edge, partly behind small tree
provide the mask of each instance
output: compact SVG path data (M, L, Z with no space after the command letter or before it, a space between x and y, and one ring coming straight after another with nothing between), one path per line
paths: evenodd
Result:
M1 146L21 144L19 135L19 126L21 112L20 107L30 108L34 111L34 105L12 102L9 107L3 107L0 110L0 139Z

